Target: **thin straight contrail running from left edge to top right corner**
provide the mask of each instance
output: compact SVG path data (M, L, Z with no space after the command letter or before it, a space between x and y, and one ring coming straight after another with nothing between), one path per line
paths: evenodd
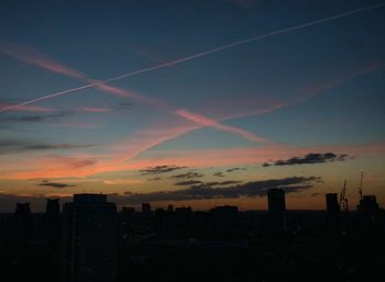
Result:
M353 15L353 14L358 14L358 13L362 13L362 12L365 12L365 11L374 10L374 9L377 9L377 8L381 8L381 7L384 7L384 5L385 5L385 2L381 2L381 3L377 3L377 4L364 7L364 8L352 10L352 11L348 11L348 12L344 12L344 13L336 14L336 15L332 15L332 16L328 16L328 18L324 18L324 19L317 20L317 21L312 21L312 22L308 22L308 23L304 23L304 24L299 24L299 25L282 29L282 30L278 30L278 31L275 31L275 32L270 32L270 33L262 34L262 35L256 35L256 36L253 36L253 37L250 37L250 38L246 38L246 40L242 40L242 41L233 42L233 43L230 43L230 44L226 44L226 45L212 48L212 49L200 52L200 53L197 53L197 54L194 54L194 55L190 55L190 56L186 56L186 57L183 57L183 58L178 58L178 59L175 59L175 60L170 60L170 61L167 61L167 63L158 64L158 65L155 65L155 66L152 66L152 67L148 67L148 68L143 68L143 69L135 70L135 71L130 71L130 72L127 72L127 74L123 74L123 75L120 75L120 76L117 76L117 77L113 77L113 78L101 80L101 81L96 82L96 83L84 84L81 87L77 87L77 88L73 88L73 89L55 92L55 93L52 93L52 94L47 94L47 95L44 95L44 97L40 97L40 98L33 99L33 100L25 101L25 102L20 103L20 104L15 104L15 105L11 105L11 106L8 106L8 108L3 108L3 109L0 110L0 113L9 111L9 110L12 110L12 109L14 109L16 106L28 105L28 104L32 104L32 103L35 103L35 102L38 102L38 101L43 101L43 100L52 99L52 98L55 98L55 97L59 97L59 95L68 94L68 93L72 93L72 92L76 92L76 91L79 91L79 90L82 90L82 89L91 88L91 87L97 86L98 83L102 83L102 82L107 83L107 82L116 81L116 80L119 80L119 79L133 77L133 76L143 74L143 72L147 72L147 71L152 71L152 70L156 70L156 69L162 69L162 68L167 68L167 67L170 67L170 66L174 66L174 65L178 65L178 64L182 64L182 63L185 63L185 61L188 61L188 60L193 60L193 59L196 59L196 58L208 56L208 55L211 55L213 53L218 53L218 52L221 52L221 50L230 49L230 48L237 47L239 45L244 45L244 44L248 44L248 43L251 43L251 42L264 40L264 38L272 37L272 36L275 36L275 35L289 33L289 32L301 30L301 29L310 27L310 26L314 26L314 25L318 25L318 24L321 24L321 23L326 23L326 22L338 20L338 19L346 18L346 16L350 16L350 15Z

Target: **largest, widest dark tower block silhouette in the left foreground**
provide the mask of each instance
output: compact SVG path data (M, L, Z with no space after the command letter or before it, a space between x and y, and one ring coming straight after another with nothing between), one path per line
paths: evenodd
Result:
M63 206L61 282L117 281L117 206L106 194L74 194Z

